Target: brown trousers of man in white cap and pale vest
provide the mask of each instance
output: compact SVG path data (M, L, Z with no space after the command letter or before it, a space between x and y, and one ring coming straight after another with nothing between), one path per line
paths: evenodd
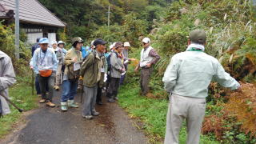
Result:
M141 79L140 79L142 94L147 94L150 90L149 84L150 84L150 75L152 71L153 71L153 67L142 68Z

